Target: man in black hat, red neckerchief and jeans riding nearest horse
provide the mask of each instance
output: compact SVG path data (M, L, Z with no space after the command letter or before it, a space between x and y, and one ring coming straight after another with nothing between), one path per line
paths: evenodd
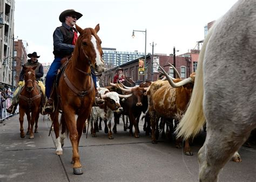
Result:
M75 44L78 38L78 32L74 27L77 20L83 15L73 9L65 10L59 15L59 21L62 26L56 28L53 32L53 54L55 59L53 60L49 71L45 79L46 96L48 101L45 104L44 111L46 114L50 114L54 111L53 101L56 98L56 90L53 86L53 82L56 78L58 69L60 68L61 60L68 58L72 54ZM95 75L91 75L93 80L96 80ZM95 83L96 84L96 83ZM104 100L99 98L97 89L96 92L96 104L103 103Z

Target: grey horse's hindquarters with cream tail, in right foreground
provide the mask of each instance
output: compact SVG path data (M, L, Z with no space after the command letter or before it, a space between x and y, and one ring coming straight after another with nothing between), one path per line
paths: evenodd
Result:
M238 1L214 23L201 48L191 102L178 126L179 136L188 138L207 123L198 152L200 181L217 181L256 128L255 22L256 1Z

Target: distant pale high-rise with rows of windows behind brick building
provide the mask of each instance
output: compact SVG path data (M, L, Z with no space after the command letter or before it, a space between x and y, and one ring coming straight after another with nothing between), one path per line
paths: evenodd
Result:
M102 48L103 59L107 69L125 64L126 62L143 57L145 53L134 51L117 51L116 48Z

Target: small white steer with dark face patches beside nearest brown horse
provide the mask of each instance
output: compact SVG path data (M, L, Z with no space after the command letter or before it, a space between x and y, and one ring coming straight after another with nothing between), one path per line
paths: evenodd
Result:
M92 107L91 117L90 117L90 123L91 123L91 134L92 137L96 137L96 130L93 128L93 123L96 123L98 121L98 117L102 118L102 120L105 123L105 133L108 133L109 139L113 139L112 131L111 131L111 120L113 113L120 113L123 111L123 108L120 106L119 103L119 97L127 98L130 97L130 95L120 95L116 92L109 92L106 88L100 88L99 94L102 95L102 98L104 99L104 103L100 107ZM107 127L106 127L107 125Z

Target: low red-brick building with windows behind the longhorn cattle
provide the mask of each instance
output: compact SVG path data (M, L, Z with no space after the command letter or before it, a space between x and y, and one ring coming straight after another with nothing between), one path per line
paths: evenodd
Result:
M198 53L187 53L185 55L178 55L176 56L176 68L181 76L182 79L187 78L193 72L193 64L192 64L192 54ZM173 54L170 55L162 55L162 54L147 54L146 56L146 66L145 66L145 75L139 75L139 59L126 62L119 67L124 69L123 74L126 77L130 77L133 81L137 84L143 82L144 80L156 81L159 79L159 72L157 71L158 66L154 64L154 61L158 61L158 64L162 66L165 71L170 75L173 76L173 68L169 65L173 65ZM193 59L196 62L196 55L193 55ZM154 60L154 61L153 61ZM102 78L100 78L100 86L108 86L109 79L113 82L113 76L116 74L116 69L118 67L111 68L103 73ZM153 69L152 69L153 68Z

